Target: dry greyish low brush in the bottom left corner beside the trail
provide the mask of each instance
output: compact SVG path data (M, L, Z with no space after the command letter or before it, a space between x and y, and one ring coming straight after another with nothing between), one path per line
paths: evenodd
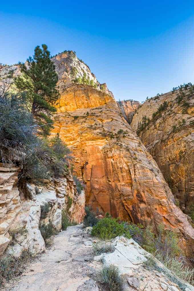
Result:
M5 281L18 276L30 260L31 254L27 251L23 251L19 258L14 258L10 254L3 254L0 258L0 287Z

